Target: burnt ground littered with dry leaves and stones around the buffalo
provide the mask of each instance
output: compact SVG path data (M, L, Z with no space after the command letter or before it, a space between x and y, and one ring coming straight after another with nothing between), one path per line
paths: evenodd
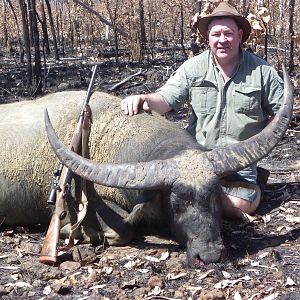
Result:
M175 67L166 61L122 68L106 63L99 69L95 88L122 96L153 91ZM110 90L139 68L146 71ZM22 69L3 70L1 102L28 97L28 90L16 88L18 78L24 76ZM86 89L89 71L81 63L53 66L47 90ZM169 117L181 126L184 114L183 110L179 117ZM271 173L258 211L244 220L223 222L226 255L222 262L190 269L185 249L169 237L140 235L124 247L76 245L60 253L55 266L47 266L38 262L46 227L2 226L0 298L300 299L299 146L297 96L284 139L260 162Z

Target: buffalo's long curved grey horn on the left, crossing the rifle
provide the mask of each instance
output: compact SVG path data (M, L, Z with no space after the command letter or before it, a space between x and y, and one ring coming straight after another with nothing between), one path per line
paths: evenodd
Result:
M162 189L174 181L176 163L172 159L126 164L97 163L70 151L60 142L47 110L45 126L49 142L59 160L73 173L86 180L127 189Z

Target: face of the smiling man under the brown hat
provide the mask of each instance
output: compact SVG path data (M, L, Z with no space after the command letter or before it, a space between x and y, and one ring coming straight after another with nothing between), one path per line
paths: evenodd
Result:
M238 59L242 37L243 30L231 18L213 19L208 26L209 46L220 64Z

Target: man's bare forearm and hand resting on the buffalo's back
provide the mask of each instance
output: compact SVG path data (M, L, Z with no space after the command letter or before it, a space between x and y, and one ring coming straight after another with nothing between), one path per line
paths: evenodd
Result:
M172 110L172 107L159 93L126 97L121 101L121 108L129 116L136 115L142 109L145 111L154 110L159 114Z

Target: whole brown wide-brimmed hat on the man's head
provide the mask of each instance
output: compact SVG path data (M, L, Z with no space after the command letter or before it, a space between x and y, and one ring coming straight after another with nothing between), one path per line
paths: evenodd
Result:
M249 21L241 16L233 6L228 4L228 2L221 2L210 15L198 19L196 26L205 39L208 40L209 23L214 18L218 17L228 17L234 19L238 27L243 29L242 43L246 42L251 33L251 25Z

